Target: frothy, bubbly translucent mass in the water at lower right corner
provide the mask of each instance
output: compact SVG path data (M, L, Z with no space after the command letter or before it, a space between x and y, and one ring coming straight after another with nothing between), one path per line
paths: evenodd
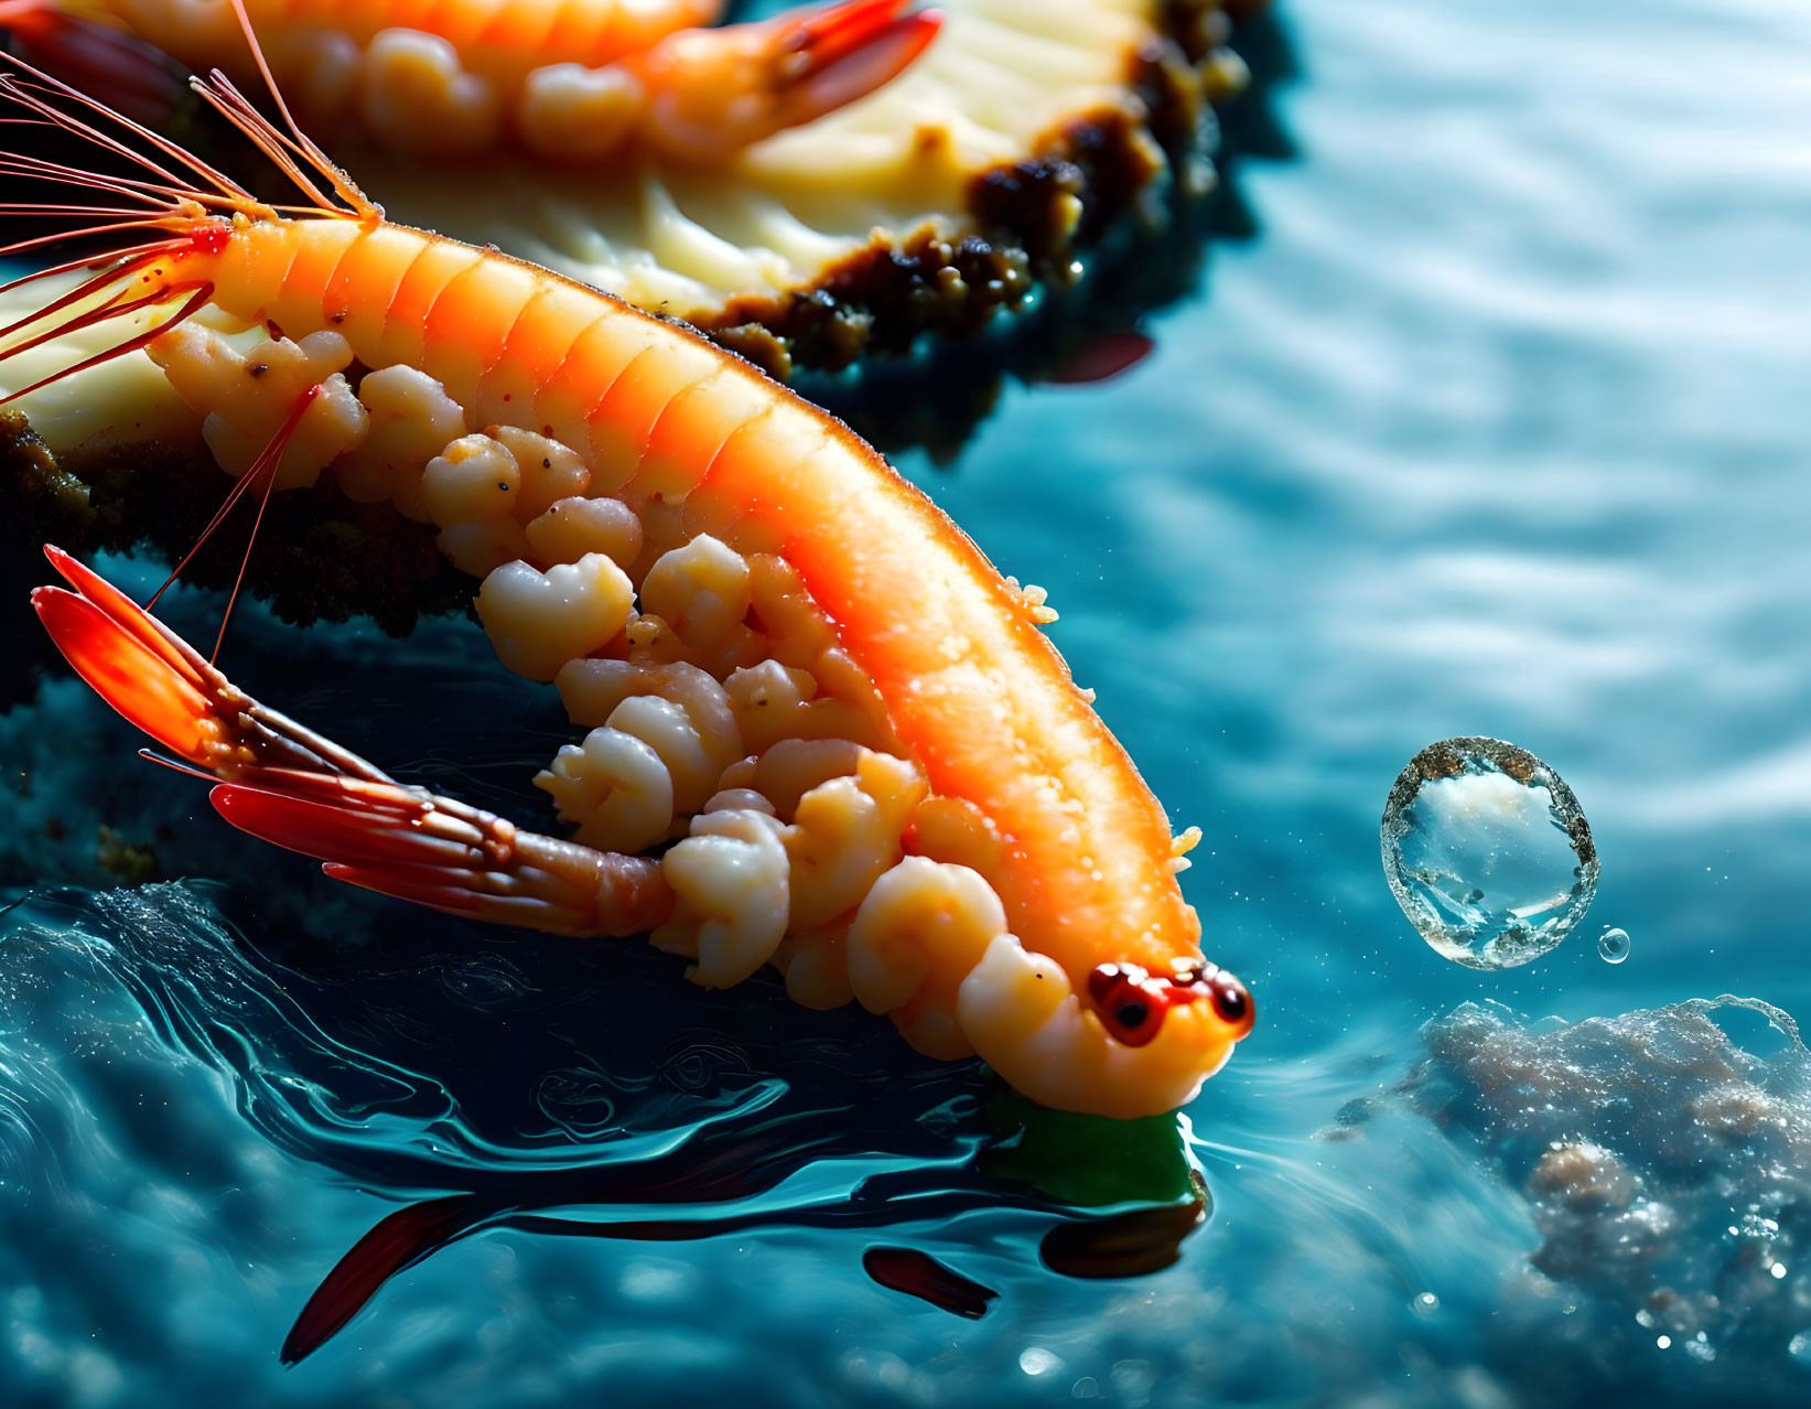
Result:
M1590 1297L1606 1366L1672 1375L1672 1351L1711 1400L1802 1393L1811 1052L1786 1012L1722 994L1534 1030L1465 1003L1422 1036L1411 1105L1528 1201L1528 1260Z

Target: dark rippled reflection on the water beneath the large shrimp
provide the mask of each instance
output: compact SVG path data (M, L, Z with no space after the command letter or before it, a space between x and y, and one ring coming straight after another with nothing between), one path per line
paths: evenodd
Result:
M1043 1110L973 1063L911 1056L866 1014L790 1034L795 1009L777 985L706 996L654 980L625 1005L636 965L614 947L498 954L482 935L424 953L378 933L393 947L388 974L366 962L304 973L210 902L237 904L185 886L29 898L7 913L7 956L42 963L80 945L293 1155L393 1195L458 1190L364 1233L301 1309L284 1362L319 1349L395 1273L487 1228L627 1242L887 1228L936 1241L1012 1213L1030 1215L1047 1268L1097 1279L1172 1264L1206 1215L1177 1117ZM13 1154L29 1172L25 1148ZM869 1250L862 1266L956 1315L998 1295L916 1248Z

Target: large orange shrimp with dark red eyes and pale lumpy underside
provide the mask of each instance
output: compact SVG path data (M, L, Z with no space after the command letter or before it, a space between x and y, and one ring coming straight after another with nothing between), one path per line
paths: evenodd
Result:
M306 205L34 71L0 91L154 149L138 177L0 158L89 188L118 244L22 281L76 277L0 330L0 375L112 340L0 404L149 357L237 476L228 505L328 476L433 523L500 661L583 732L536 777L572 835L529 831L257 703L53 549L53 639L230 824L476 920L648 935L706 987L770 965L1058 1108L1174 1110L1251 1030L1177 884L1199 831L1172 837L1043 594L846 426L683 326L386 223L225 78L197 91Z

